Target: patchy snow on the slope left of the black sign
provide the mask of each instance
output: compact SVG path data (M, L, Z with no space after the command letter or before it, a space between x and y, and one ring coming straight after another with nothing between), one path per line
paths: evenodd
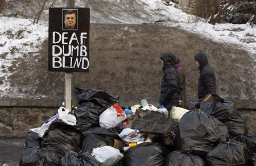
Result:
M6 78L13 74L9 68L19 65L19 58L38 47L48 37L48 26L33 25L28 19L0 17L0 92L10 88ZM1 96L2 96L1 95Z

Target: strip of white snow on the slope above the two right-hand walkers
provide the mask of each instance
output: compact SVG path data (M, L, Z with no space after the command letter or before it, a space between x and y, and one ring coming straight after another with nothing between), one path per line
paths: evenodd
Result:
M216 24L207 23L204 19L197 20L196 16L183 13L180 9L173 6L166 6L158 0L141 0L147 4L146 10L154 12L160 10L168 15L164 25L170 27L180 27L183 30L199 34L209 38L214 42L234 44L238 48L245 49L256 61L256 27L252 28L247 24ZM195 20L197 20L195 22ZM195 23L193 23L195 22Z

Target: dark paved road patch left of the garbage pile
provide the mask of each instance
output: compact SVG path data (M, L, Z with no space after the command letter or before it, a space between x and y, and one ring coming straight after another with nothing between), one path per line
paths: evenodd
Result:
M24 138L0 138L0 166L3 164L18 165L24 148Z

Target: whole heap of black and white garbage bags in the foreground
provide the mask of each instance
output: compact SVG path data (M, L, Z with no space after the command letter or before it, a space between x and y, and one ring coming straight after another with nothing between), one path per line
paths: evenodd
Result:
M218 96L168 111L146 99L124 108L96 89L75 93L74 113L61 106L27 132L19 165L256 166L256 135L234 103Z

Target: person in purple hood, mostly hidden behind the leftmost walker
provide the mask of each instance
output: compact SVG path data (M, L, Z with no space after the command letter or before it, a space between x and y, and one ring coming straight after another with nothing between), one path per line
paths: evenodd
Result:
M185 92L186 77L185 77L185 73L183 72L183 69L181 68L179 56L177 55L175 56L176 56L176 61L175 61L174 68L177 71L179 81L181 82L181 85L182 85L182 90L179 94L179 101L181 101L180 106L185 109L187 106L187 97Z

